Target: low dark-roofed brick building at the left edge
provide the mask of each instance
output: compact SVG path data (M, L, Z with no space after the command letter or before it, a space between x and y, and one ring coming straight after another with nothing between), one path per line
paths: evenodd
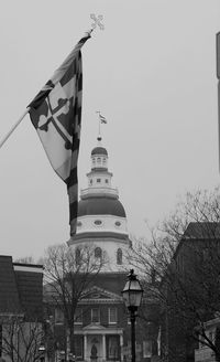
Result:
M12 361L13 354L15 360L26 361L28 344L30 351L36 349L36 355L43 339L42 321L43 267L0 255L0 356Z

